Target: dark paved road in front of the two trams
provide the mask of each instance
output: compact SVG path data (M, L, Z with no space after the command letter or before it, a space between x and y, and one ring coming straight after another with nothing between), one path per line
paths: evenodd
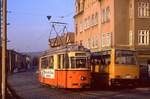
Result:
M150 99L150 88L70 91L42 86L35 72L16 73L8 82L23 99Z

